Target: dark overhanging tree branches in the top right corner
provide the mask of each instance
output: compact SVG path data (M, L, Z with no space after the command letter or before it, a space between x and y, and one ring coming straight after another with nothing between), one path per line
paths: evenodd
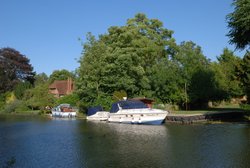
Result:
M250 0L233 0L234 11L227 15L230 43L237 49L250 46Z

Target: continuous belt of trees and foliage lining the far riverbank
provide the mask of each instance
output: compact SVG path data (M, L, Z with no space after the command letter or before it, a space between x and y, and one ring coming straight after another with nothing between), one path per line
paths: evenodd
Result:
M247 95L250 104L249 52L241 59L225 48L211 62L199 45L176 44L172 36L161 21L139 13L98 38L88 33L77 73L55 70L49 77L35 75L29 59L15 49L0 49L0 80L4 81L0 82L0 111L44 111L61 103L78 106L80 111L95 105L109 110L113 101L124 97L149 97L188 109ZM76 92L59 99L49 93L53 81L68 78L77 81Z

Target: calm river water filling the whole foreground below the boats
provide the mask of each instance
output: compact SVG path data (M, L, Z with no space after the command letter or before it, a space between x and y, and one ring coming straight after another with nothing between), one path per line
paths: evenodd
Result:
M250 167L250 125L126 125L0 116L0 167Z

